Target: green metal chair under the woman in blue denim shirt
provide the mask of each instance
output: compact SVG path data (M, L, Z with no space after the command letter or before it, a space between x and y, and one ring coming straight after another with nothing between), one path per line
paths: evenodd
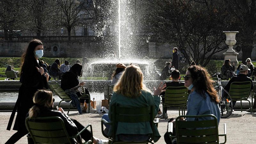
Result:
M194 117L195 121L184 121L180 118ZM212 117L210 120L200 120L198 118ZM173 132L173 123L168 123L168 133L171 139L177 138L177 144L203 144L203 143L220 143L219 136L224 136L227 141L226 123L224 124L224 134L219 134L217 117L208 115L197 116L178 116L175 121L175 130Z

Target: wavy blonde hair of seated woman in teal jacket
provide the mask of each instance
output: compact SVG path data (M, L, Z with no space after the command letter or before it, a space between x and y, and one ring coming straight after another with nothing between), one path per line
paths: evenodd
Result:
M143 84L143 73L140 67L135 65L130 65L125 68L113 89L114 92L130 98L139 97L141 90L149 91Z

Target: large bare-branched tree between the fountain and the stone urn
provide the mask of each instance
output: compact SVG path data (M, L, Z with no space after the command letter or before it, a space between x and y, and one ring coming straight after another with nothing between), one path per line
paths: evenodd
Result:
M156 36L176 44L190 63L206 66L224 44L228 11L222 1L156 0Z

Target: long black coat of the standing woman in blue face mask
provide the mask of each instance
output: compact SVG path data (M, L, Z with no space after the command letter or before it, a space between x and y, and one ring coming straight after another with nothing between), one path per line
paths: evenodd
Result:
M7 130L11 129L13 118L17 110L17 116L15 119L13 130L27 132L25 126L25 117L28 113L29 108L31 108L33 103L33 96L37 90L48 89L48 84L46 77L38 72L37 68L43 67L39 60L39 64L36 59L29 61L29 63L24 64L22 68L22 73L20 75L20 89L18 99L15 103L14 109L12 110L12 115L10 117Z

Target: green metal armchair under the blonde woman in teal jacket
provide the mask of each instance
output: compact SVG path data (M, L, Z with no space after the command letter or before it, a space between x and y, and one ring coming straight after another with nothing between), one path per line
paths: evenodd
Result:
M140 122L149 122L153 131L154 124L158 124L158 118L156 119L156 122L154 122L154 106L148 106L148 107L142 107L142 108L124 108L119 106L112 106L111 109L113 109L112 113L112 122L108 122L105 119L101 120L101 132L102 134L108 138L109 144L115 144L115 143L152 143L153 140L153 133L150 134L150 137L147 141L116 141L116 127L118 122L124 122L124 123L140 123ZM110 124L113 132L112 136L107 136L104 133L103 130L103 123Z

